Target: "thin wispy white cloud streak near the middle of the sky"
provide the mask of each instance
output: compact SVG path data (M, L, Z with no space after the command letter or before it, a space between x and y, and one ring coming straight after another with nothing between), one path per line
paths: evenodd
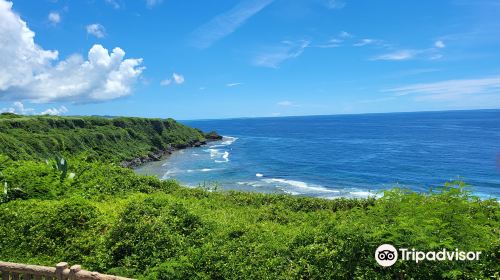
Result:
M309 44L310 42L306 40L298 42L283 41L280 46L259 54L254 58L253 63L257 66L278 68L285 60L300 56Z

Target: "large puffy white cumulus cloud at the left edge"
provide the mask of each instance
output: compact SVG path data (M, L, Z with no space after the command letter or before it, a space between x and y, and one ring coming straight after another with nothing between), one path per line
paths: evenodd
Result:
M124 59L125 52L108 52L94 45L87 59L44 50L35 33L0 0L0 99L32 102L99 102L131 94L141 75L142 59Z

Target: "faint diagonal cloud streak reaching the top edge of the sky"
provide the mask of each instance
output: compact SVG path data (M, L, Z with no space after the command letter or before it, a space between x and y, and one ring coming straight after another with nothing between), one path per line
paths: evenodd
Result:
M248 19L271 4L274 0L243 0L231 10L222 13L192 34L192 44L197 48L208 48L216 41L228 36Z

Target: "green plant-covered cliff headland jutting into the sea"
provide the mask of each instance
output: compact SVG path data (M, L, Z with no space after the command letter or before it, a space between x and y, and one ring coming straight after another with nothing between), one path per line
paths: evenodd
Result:
M202 131L173 119L0 116L0 154L14 160L85 153L87 158L133 166L206 141Z

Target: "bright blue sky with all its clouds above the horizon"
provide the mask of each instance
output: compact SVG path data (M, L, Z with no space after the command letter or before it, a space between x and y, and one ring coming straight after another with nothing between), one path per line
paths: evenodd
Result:
M499 14L496 0L0 0L0 110L500 108Z

